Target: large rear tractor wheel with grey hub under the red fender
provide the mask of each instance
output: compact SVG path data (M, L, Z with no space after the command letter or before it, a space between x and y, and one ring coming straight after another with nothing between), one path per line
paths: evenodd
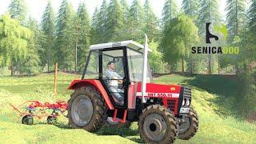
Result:
M97 90L84 86L75 90L68 101L68 118L72 128L94 132L102 128L106 106Z

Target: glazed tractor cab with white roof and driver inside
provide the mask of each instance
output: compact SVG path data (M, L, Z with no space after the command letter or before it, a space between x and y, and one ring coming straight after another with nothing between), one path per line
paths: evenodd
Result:
M82 79L98 79L115 106L127 107L130 84L142 82L143 46L134 41L90 46ZM153 82L147 64L146 82Z

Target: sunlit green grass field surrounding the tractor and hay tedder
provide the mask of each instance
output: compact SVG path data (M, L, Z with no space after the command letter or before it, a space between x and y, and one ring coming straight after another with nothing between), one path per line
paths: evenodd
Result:
M58 74L58 96L53 95L53 74L34 77L0 77L0 143L135 143L142 142L137 123L130 129L102 128L96 134L86 130L73 130L67 119L60 117L54 125L46 124L46 118L34 119L33 126L21 124L21 118L14 113L9 102L18 105L26 100L54 102L67 101L71 90L66 90L74 78L80 75ZM198 112L198 133L189 141L176 143L255 143L256 123L238 119L231 107L232 95L238 90L234 78L195 75L184 77L176 74L155 78L157 83L189 85L193 88L192 106ZM223 101L219 101L219 100Z

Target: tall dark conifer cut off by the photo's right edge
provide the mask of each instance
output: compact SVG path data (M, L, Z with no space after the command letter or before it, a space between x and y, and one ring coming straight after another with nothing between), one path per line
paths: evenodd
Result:
M243 27L241 34L242 40L239 42L242 50L240 50L238 62L242 70L238 75L241 87L237 98L240 112L245 116L256 110L254 105L256 102L256 72L255 68L252 67L256 62L256 1L251 2L247 19L247 25Z

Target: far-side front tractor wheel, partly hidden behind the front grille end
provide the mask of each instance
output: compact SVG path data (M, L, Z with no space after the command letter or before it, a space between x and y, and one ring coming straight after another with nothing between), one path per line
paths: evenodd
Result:
M178 138L188 140L194 136L198 131L198 114L190 108L188 117L185 118L185 122L181 123L178 127Z

